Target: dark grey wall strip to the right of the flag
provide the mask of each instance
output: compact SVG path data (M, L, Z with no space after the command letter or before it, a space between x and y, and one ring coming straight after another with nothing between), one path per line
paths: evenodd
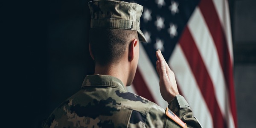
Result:
M231 0L239 128L256 125L256 0Z

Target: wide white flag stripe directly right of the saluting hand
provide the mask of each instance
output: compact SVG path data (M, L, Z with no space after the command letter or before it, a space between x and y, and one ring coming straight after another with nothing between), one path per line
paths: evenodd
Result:
M175 73L179 89L192 108L193 115L198 118L203 128L213 128L211 113L179 44L176 45L168 64Z

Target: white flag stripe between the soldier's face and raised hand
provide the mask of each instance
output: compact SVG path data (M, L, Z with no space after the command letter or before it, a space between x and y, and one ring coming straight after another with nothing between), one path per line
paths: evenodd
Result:
M151 61L149 60L148 55L141 43L138 67L141 71L143 79L145 80L145 84L148 86L150 93L155 99L156 104L162 108L166 108L168 104L161 96L157 72L154 70L155 67L153 67L151 64Z

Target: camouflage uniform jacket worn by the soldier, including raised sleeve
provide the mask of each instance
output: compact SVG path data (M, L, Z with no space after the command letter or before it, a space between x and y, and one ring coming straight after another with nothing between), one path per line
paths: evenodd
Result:
M176 96L168 108L187 127L201 128L183 96ZM180 128L180 125L166 116L165 109L127 92L121 80L112 76L89 75L85 77L81 90L56 108L44 127Z

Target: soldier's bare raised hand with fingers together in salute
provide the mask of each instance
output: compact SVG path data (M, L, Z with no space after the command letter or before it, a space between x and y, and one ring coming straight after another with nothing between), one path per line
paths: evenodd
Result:
M156 52L157 55L157 73L159 74L159 86L160 93L163 99L170 103L171 100L179 95L177 84L175 80L175 75L166 63L161 51L158 49Z

